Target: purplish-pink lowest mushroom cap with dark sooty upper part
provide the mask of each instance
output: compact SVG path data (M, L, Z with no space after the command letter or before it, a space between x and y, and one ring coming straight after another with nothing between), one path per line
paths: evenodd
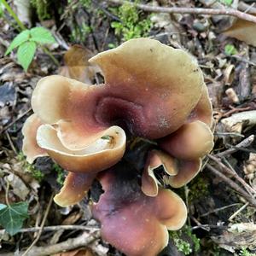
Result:
M93 216L102 224L102 238L125 255L155 256L168 243L167 230L185 223L186 207L171 190L160 189L155 197L144 195L137 180L125 175L117 177L112 171L102 175L105 192L93 207Z

